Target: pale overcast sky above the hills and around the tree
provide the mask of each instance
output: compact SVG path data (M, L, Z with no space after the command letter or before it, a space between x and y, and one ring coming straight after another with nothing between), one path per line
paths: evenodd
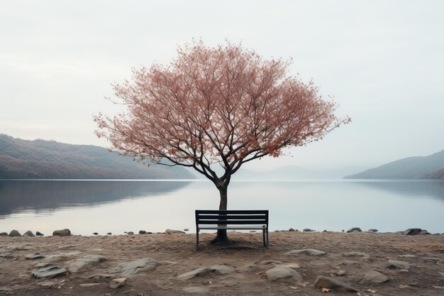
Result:
M250 168L373 167L444 149L444 1L2 1L0 133L109 146L111 83L177 45L242 41L292 57L353 122Z

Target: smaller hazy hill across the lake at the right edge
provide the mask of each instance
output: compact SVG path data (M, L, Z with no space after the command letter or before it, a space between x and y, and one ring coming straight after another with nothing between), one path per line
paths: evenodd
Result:
M377 168L348 175L345 179L439 179L444 178L444 150L428 156L395 160Z

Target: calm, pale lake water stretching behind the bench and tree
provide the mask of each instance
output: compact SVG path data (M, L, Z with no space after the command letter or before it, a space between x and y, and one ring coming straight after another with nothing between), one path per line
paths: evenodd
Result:
M0 232L194 232L194 209L218 202L203 180L0 180ZM269 209L271 230L443 233L444 180L239 180L228 188L228 209Z

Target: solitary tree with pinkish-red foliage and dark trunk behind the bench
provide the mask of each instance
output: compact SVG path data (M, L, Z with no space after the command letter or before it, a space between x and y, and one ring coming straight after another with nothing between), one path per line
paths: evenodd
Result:
M138 159L194 168L216 185L227 209L231 176L244 163L318 141L340 124L313 82L287 75L288 61L263 60L241 45L178 48L170 65L133 70L113 86L126 111L99 114L96 135ZM228 240L218 230L214 241Z

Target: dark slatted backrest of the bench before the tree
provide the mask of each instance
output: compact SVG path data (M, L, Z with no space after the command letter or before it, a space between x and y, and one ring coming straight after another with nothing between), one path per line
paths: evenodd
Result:
M216 211L211 209L196 209L196 225L199 224L266 224L268 225L268 210L228 210Z

